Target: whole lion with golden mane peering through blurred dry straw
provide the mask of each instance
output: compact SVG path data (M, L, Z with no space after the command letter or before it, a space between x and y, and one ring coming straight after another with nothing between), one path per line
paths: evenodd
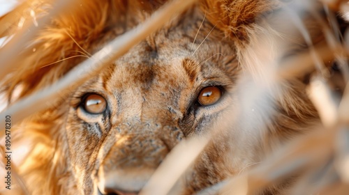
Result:
M32 52L25 53L15 76L2 81L9 104L64 77L165 3L79 1L75 9L53 17L27 42ZM218 132L183 176L178 193L195 194L314 130L320 119L305 93L309 74L281 81L282 93L261 97L265 102L252 104L252 111L242 111L241 102L249 95L241 95L244 87L237 87L258 81L267 69L255 59L260 38L276 35L291 45L291 53L307 49L302 36L290 38L278 29L283 22L265 22L288 4L200 0L96 76L62 92L49 109L15 125L13 142L30 147L18 165L29 193L138 194L178 143ZM48 7L43 3L35 11L40 15ZM320 24L307 28L313 42L324 40ZM272 46L268 52L274 54ZM267 116L263 107L269 102L273 106ZM251 123L244 123L245 118ZM265 125L254 125L261 121ZM258 194L288 194L296 179Z

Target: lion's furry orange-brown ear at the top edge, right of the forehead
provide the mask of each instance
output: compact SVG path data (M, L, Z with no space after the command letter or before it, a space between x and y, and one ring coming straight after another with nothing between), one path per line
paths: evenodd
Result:
M206 17L229 38L246 40L255 19L280 6L279 0L201 0Z

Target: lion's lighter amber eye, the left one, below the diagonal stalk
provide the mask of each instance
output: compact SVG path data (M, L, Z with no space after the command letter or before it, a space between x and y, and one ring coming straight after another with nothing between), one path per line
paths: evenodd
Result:
M89 94L84 98L84 110L90 114L101 114L107 108L107 102L98 94Z

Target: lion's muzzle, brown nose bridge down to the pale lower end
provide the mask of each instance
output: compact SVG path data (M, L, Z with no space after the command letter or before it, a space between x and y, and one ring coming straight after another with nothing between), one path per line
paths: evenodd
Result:
M98 170L98 189L103 194L137 194L142 189L170 150L156 133L161 129L131 122L114 129L117 140Z

